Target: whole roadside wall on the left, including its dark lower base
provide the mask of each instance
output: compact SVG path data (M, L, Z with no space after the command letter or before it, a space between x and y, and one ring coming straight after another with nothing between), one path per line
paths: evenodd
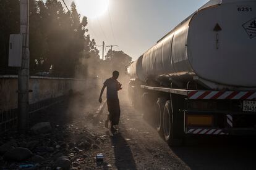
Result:
M31 76L29 89L30 112L58 102L72 92L86 91L101 84L100 79L71 79ZM17 76L0 76L0 132L17 124Z

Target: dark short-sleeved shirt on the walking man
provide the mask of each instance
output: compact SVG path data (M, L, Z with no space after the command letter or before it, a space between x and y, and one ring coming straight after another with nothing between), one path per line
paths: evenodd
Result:
M104 85L107 87L107 99L115 100L118 99L117 91L119 83L114 78L106 79Z

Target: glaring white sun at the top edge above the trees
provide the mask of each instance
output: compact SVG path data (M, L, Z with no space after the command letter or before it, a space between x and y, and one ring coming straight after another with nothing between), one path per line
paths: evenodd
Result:
M108 10L109 0L75 0L77 9L85 17L96 18Z

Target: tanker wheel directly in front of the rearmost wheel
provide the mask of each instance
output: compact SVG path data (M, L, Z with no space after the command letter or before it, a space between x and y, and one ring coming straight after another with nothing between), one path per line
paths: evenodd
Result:
M163 97L158 98L156 102L156 130L161 137L163 137L163 111L166 99Z

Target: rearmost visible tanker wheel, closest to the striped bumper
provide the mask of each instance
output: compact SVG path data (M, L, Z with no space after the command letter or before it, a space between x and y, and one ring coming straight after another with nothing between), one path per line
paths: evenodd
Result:
M177 127L174 126L173 109L171 101L168 100L164 106L163 111L163 132L164 139L170 146L179 146L182 139L177 138Z

